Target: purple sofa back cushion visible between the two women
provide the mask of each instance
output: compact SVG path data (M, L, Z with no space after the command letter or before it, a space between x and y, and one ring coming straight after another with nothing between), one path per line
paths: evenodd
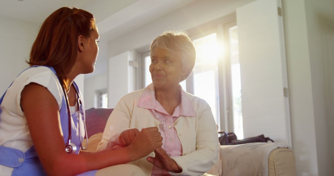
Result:
M85 111L88 138L104 131L107 120L113 110L107 108L90 108Z

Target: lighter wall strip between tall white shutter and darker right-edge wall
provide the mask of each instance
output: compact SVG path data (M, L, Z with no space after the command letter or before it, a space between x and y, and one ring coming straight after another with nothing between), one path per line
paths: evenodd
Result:
M297 175L318 175L305 4L303 0L282 4Z

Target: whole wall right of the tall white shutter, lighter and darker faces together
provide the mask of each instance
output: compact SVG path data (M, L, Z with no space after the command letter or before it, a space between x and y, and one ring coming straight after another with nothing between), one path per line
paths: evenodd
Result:
M333 1L283 0L297 175L333 171Z

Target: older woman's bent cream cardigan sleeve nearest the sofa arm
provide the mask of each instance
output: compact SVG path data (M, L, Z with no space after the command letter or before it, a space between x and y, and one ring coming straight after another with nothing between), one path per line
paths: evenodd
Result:
M182 172L169 172L171 175L203 175L218 161L218 133L211 108L201 99L198 111L196 150L184 156L172 157Z

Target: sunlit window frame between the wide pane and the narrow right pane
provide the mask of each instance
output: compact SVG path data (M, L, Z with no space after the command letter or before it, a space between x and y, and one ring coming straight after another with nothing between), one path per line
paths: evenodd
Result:
M229 51L229 28L236 26L236 14L230 14L223 18L202 24L198 27L188 30L191 40L196 40L201 37L217 34L217 42L222 44L224 52L218 56L218 107L217 114L219 120L219 131L234 132L233 128L233 104L232 104L232 89L231 89L231 65ZM192 77L192 78L191 78ZM189 79L190 78L190 79ZM193 74L187 79L187 92L194 93ZM188 83L189 82L189 83Z

